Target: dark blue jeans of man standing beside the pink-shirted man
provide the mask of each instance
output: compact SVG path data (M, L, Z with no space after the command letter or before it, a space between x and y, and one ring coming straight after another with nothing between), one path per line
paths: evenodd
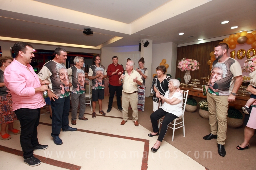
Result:
M51 136L59 136L61 128L69 127L70 96L51 101Z

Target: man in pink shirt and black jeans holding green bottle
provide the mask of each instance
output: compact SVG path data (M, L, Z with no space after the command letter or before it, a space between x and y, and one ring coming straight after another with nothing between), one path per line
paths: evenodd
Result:
M45 105L43 91L47 80L40 83L34 69L29 64L34 56L33 46L26 42L16 42L13 46L16 58L5 69L5 86L10 90L13 111L20 120L20 145L24 163L36 166L41 161L34 157L34 150L44 150L48 145L40 145L37 138L37 126L40 119L40 108Z

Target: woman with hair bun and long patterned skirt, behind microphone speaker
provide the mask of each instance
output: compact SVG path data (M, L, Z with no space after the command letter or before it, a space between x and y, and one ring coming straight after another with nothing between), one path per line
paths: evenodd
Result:
M141 75L141 79L143 80L142 85L138 85L138 111L143 111L144 112L144 107L145 107L145 91L146 91L146 78L148 76L148 69L144 67L144 58L141 57L139 60L139 66L140 68L136 68L138 73Z

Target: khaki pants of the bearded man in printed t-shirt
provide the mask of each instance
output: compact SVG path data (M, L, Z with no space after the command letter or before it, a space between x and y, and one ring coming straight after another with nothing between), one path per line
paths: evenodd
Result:
M217 143L225 145L227 133L228 96L217 96L207 93L209 122L211 133L218 135Z

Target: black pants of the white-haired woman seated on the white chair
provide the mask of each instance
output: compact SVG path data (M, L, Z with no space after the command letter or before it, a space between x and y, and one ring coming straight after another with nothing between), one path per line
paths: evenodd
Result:
M150 115L150 119L151 119L151 123L152 123L152 128L153 128L153 132L156 133L159 131L158 129L158 123L157 121L161 118L161 117L164 117L164 120L162 122L162 128L161 128L161 131L159 133L159 136L158 136L158 141L162 142L163 139L164 139L164 136L167 132L167 129L168 129L168 125L176 118L178 118L178 116L172 114L172 113L168 113L166 111L164 111L162 108L159 108L158 110L156 110L155 112L153 112L151 115Z

